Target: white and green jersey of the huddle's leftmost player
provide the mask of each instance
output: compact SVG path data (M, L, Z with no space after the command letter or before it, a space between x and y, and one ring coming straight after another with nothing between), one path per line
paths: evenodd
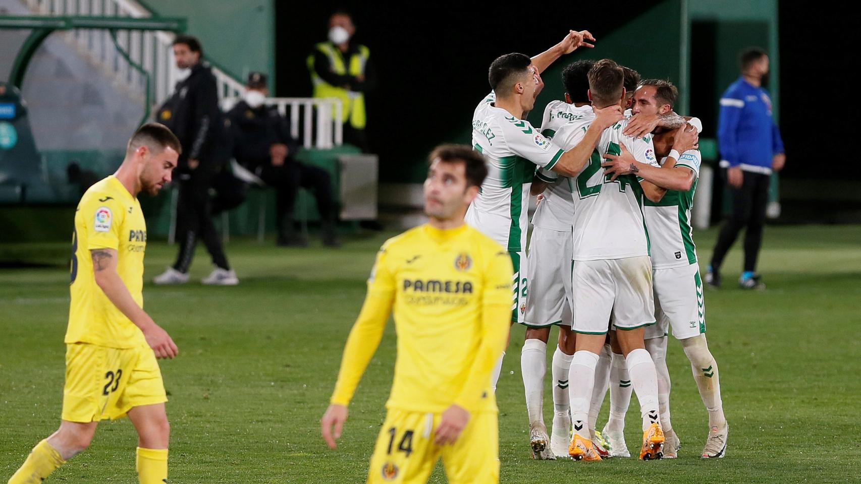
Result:
M564 151L494 101L493 93L487 95L473 114L473 147L487 160L487 177L469 205L466 222L509 252L522 252L536 165L553 168Z

